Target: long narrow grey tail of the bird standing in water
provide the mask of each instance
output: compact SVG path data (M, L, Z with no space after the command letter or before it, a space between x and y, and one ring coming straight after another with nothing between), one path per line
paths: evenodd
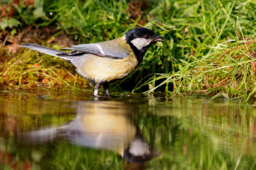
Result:
M37 44L25 43L25 44L22 44L22 45L19 45L19 46L24 47L24 48L28 48L28 49L32 49L32 50L36 50L38 52L49 54L51 56L56 56L56 57L60 57L60 56L57 56L57 54L63 53L60 50L52 49L52 48L49 48L49 47L46 47L46 46L43 46L43 45L37 45ZM60 58L62 58L62 57L60 57ZM64 59L66 59L66 58L64 58Z

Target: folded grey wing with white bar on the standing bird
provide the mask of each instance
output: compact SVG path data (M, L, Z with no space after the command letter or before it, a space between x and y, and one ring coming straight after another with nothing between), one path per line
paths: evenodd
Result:
M98 43L75 45L75 46L71 46L69 48L64 48L61 50L73 50L73 52L65 53L68 55L74 55L79 53L90 53L96 56L112 58L112 59L123 59L129 55L128 53L112 52L111 50L104 48L103 45Z

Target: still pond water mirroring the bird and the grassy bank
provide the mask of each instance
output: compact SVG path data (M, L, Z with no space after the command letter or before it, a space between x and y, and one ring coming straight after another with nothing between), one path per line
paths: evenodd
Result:
M0 91L0 169L256 169L256 104Z

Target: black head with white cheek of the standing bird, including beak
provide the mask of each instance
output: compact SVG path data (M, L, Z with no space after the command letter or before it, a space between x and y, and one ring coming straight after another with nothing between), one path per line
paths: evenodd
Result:
M141 62L148 48L156 41L164 41L164 37L156 35L147 28L135 28L125 33L126 42L133 49L137 59Z

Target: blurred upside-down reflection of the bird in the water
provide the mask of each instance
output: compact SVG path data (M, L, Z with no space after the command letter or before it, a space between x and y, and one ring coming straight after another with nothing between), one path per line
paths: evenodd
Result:
M59 127L28 131L20 135L22 141L44 143L67 138L76 145L117 152L133 169L143 168L142 164L159 155L144 141L138 126L131 122L131 111L124 103L90 101L75 105L77 115L73 121Z

